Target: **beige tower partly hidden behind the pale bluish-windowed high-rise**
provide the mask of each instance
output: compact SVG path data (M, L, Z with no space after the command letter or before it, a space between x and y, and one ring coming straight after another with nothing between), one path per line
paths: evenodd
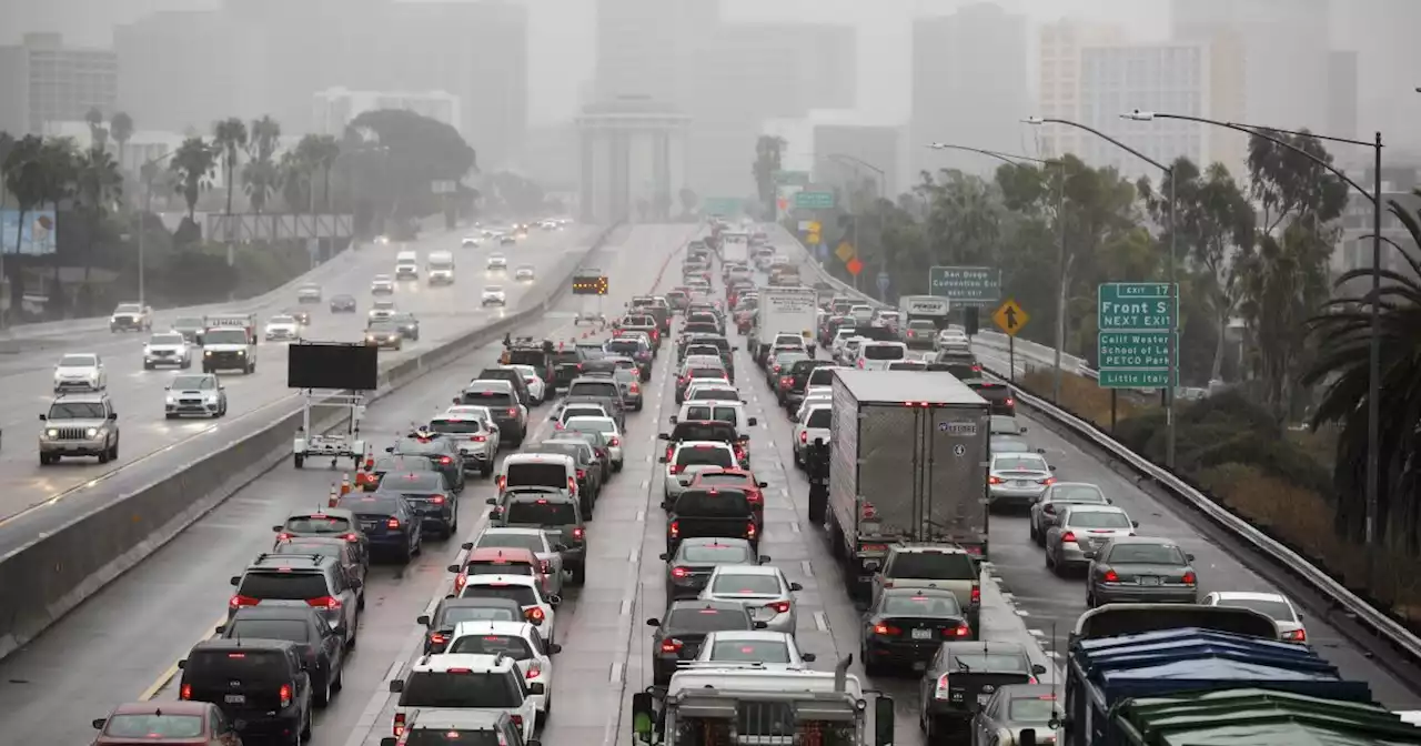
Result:
M1086 24L1074 20L1049 23L1040 28L1036 115L1047 119L1080 119L1080 51L1101 44L1124 44L1118 26ZM1044 158L1080 153L1084 132L1073 126L1046 124L1037 132Z

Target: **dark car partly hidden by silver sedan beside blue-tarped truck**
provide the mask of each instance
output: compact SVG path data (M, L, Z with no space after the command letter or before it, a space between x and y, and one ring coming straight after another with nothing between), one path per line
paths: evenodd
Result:
M1017 642L942 642L918 686L918 725L928 743L961 743L996 688L1039 683L1043 674L1046 666L1033 664Z

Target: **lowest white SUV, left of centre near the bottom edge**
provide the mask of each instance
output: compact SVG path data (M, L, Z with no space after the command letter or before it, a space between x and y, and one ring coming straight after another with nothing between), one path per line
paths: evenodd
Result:
M541 683L524 681L512 656L470 654L423 655L405 678L389 682L389 691L399 695L391 720L395 737L405 736L409 723L419 722L423 713L482 713L507 715L523 743L533 740L537 728L533 695L544 693Z

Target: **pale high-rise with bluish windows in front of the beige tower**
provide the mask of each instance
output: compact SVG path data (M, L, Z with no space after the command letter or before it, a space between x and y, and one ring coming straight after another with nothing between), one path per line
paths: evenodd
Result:
M1208 44L1088 47L1080 64L1080 124L1098 129L1141 153L1171 163L1189 158L1215 161L1214 128L1179 119L1135 122L1120 115L1133 109L1214 117L1212 70ZM1103 138L1084 138L1080 158L1091 166L1113 166L1123 176L1160 172ZM1232 165L1229 166L1233 168Z

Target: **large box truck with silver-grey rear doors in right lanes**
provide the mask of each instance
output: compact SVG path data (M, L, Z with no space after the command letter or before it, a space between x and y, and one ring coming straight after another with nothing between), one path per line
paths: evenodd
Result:
M826 517L850 593L867 595L894 543L986 560L986 399L946 372L836 369L831 386Z

